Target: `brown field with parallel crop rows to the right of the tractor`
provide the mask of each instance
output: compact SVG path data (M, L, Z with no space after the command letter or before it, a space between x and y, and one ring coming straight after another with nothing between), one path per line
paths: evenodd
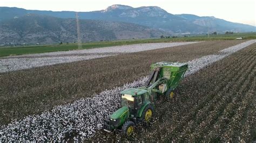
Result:
M100 131L92 140L255 140L255 55L253 44L186 77L176 99L159 101L152 125L138 127L133 139Z

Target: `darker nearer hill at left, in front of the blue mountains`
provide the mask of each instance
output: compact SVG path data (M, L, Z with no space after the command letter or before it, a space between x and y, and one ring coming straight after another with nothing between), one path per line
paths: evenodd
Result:
M169 33L146 26L108 22L104 20L79 20L82 42L116 39L156 38ZM26 14L0 23L0 43L41 43L77 41L76 19L56 18L45 15Z

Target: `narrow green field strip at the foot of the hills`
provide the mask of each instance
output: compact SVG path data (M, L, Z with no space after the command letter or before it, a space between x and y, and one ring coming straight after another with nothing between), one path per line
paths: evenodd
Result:
M133 40L116 40L102 42L87 42L83 44L83 49L143 44L152 42L178 42L178 41L208 41L208 40L234 40L242 37L243 39L256 39L256 32L251 33L234 33L234 34L219 34L219 35L201 35L178 38L156 38L156 39L133 39ZM62 44L62 45L43 45L43 46L26 46L26 47L2 47L0 48L0 56L35 54L55 51L70 51L77 49L77 44Z

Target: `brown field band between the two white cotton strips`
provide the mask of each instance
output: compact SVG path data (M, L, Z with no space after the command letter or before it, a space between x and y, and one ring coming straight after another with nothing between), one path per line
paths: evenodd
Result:
M244 41L208 41L0 74L0 124L90 97L149 74L151 63L186 62ZM207 58L205 59L207 60ZM19 103L19 104L16 104Z

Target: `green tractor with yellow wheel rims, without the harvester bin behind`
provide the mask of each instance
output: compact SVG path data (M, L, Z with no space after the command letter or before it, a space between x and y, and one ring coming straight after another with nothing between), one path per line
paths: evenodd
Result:
M129 127L133 127L137 119L150 120L152 117L153 107L147 90L130 88L120 94L122 107L113 112L108 119L104 119L103 128L107 132L116 129L129 133Z

